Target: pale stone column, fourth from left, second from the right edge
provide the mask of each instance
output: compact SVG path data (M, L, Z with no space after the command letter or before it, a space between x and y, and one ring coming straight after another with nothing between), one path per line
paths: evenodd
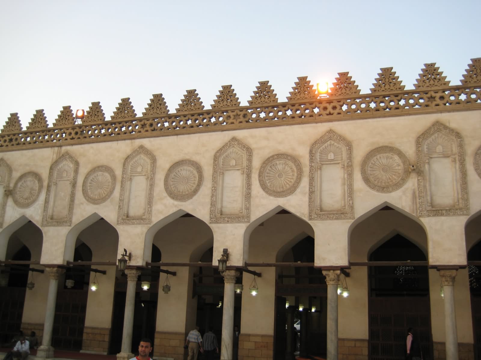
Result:
M328 284L327 360L337 360L337 286L341 272L339 270L327 270L322 273L326 276L326 284Z

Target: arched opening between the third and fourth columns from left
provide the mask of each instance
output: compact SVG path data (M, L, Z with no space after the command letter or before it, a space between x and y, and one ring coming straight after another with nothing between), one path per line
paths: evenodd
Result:
M274 265L249 265L251 270L262 273L256 279L259 291L255 297L247 291L253 276L244 274L242 305L249 311L242 312L241 333L272 334L274 359L325 356L326 311L322 309L327 288L322 271L314 268L313 228L278 206L255 219L245 236L248 264ZM261 316L263 324L256 321Z

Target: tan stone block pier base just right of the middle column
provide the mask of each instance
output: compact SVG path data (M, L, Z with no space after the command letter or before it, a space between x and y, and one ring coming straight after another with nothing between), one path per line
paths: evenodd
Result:
M271 360L274 357L274 336L241 334L239 360Z

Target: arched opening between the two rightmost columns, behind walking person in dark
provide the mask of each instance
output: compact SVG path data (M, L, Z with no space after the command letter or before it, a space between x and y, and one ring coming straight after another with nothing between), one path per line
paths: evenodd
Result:
M368 314L355 315L355 320L367 325L369 358L403 358L407 328L413 327L423 359L432 359L424 227L404 210L382 204L364 216L350 236L351 275L367 276L366 290L360 282L351 282L351 292L367 291Z

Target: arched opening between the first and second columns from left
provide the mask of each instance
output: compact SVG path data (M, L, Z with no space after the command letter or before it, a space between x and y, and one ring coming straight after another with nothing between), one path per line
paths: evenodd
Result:
M57 291L54 348L108 352L109 336L105 334L114 331L111 322L117 249L117 230L97 213L70 229L63 255L68 268L59 279ZM92 290L91 283L98 288Z

